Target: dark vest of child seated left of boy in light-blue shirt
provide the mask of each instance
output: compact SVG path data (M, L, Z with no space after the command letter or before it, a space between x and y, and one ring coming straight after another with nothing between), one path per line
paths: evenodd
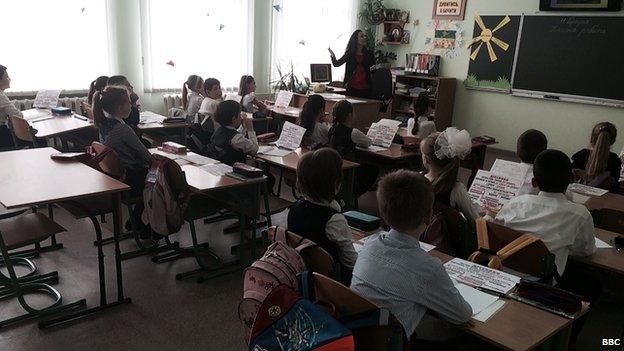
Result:
M314 241L327 251L335 262L339 260L339 248L327 238L325 226L329 219L338 213L328 206L316 205L301 199L290 207L288 212L288 230Z

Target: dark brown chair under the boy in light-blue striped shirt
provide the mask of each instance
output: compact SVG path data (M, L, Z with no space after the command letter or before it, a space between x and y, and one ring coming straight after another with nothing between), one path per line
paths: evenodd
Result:
M301 276L305 279L305 273ZM312 273L309 289L301 287L304 296L320 306L329 305L335 310L334 317L339 321L361 318L379 310L372 301L355 291L319 273ZM385 315L384 315L385 312ZM403 327L387 310L382 310L386 318L379 325L352 329L355 349L358 351L404 350L405 333Z

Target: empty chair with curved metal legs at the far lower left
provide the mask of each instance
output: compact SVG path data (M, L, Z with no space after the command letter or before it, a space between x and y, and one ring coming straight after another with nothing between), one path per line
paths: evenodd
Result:
M0 221L0 254L8 272L8 276L0 272L0 286L2 286L0 289L0 300L17 297L20 306L26 311L23 315L0 321L0 328L86 306L85 299L62 305L61 294L50 285L58 282L56 272L45 276L28 274L19 277L15 271L15 261L9 253L9 251L14 249L38 244L51 235L64 231L65 228L41 213L17 215L14 218ZM35 308L28 304L25 299L25 296L34 293L46 294L52 298L53 302L45 308Z

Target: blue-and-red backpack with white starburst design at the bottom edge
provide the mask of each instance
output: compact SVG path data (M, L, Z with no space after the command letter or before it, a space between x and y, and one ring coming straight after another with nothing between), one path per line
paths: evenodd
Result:
M353 351L353 335L287 285L276 286L258 309L249 350Z

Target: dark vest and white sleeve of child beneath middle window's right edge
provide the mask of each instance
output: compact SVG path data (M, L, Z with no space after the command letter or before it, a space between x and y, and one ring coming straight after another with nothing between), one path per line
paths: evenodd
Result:
M212 135L211 153L219 161L233 165L236 162L245 162L246 155L255 155L258 152L256 132L239 132L232 126L220 126Z

